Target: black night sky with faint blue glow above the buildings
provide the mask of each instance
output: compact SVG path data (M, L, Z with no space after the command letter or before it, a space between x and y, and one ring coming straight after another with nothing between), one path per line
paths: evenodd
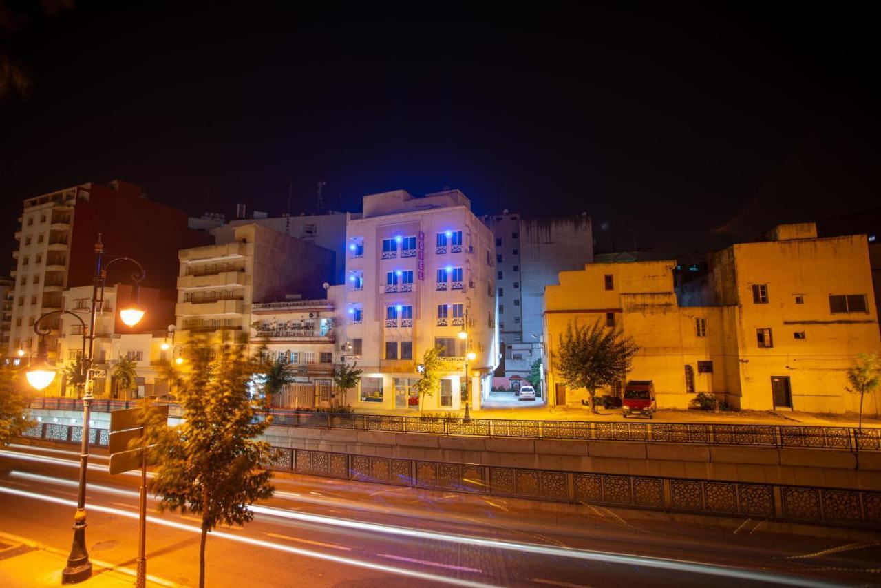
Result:
M33 90L0 103L4 249L22 198L115 178L227 218L285 212L290 183L295 213L320 180L350 211L450 186L478 214L588 212L618 249L706 250L881 201L877 20L855 5L293 4L79 1L7 33Z

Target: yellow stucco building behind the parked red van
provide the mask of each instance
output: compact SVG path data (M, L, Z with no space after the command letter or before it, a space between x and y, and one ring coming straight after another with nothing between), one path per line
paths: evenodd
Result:
M714 253L710 272L673 287L676 261L589 264L544 291L544 377L551 404L577 406L555 374L574 320L623 328L640 346L628 379L653 380L660 408L698 392L751 410L854 412L846 369L881 349L865 235L820 239L813 223ZM875 414L881 394L867 396Z

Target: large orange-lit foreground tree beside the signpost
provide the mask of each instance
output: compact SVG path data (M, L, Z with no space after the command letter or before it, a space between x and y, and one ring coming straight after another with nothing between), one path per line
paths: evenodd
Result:
M151 483L159 508L202 516L199 586L205 584L205 543L217 525L243 525L254 515L248 505L270 498L269 443L256 441L269 427L263 398L249 391L261 366L241 346L190 346L189 376L178 387L183 421L174 428L148 427L158 468Z

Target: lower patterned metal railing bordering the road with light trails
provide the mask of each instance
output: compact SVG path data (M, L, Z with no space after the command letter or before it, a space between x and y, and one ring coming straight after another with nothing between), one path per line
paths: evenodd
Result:
M81 427L60 423L40 423L24 434L57 443L80 443L82 435ZM106 428L90 428L89 436L92 445L109 443ZM550 502L881 527L881 492L850 488L542 470L287 447L272 447L271 460L263 466L341 480Z

